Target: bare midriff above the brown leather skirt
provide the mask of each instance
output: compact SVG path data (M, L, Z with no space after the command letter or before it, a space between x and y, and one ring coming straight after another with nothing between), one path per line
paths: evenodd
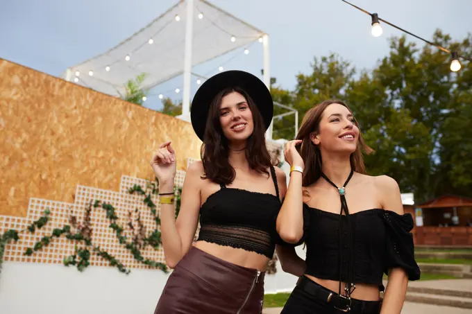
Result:
M213 255L218 259L233 263L245 268L252 268L264 272L270 259L267 256L258 254L256 252L249 252L246 250L209 243L206 241L196 241L194 247L202 250L205 253Z

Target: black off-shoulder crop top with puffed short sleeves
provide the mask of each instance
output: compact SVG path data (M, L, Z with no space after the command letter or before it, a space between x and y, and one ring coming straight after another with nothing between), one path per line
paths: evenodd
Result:
M300 243L305 242L307 248L306 274L320 279L346 281L350 270L348 264L353 261L353 284L375 284L384 290L382 274L387 274L390 268L403 268L409 280L420 277L414 260L413 237L410 234L413 219L410 214L369 209L351 213L349 218L342 216L341 238L337 213L303 204L303 220ZM339 243L343 243L342 247Z

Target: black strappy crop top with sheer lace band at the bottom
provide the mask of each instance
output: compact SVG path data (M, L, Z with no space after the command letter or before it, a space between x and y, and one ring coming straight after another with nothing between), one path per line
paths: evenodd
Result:
M282 204L276 171L271 167L276 194L243 189L221 189L208 197L200 209L200 233L197 241L240 248L273 257L280 237L276 218Z

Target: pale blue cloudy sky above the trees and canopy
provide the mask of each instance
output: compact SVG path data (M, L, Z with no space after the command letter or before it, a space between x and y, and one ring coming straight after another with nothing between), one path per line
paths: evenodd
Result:
M0 58L53 76L110 49L173 6L177 0L1 0ZM370 33L370 17L341 0L210 0L270 36L271 76L293 89L297 73L309 73L314 56L335 52L357 69L372 69L389 51L388 38L401 32L383 25ZM472 33L472 0L353 0L391 23L430 39L441 28L455 40ZM414 41L414 38L410 37ZM421 44L421 43L420 43ZM262 46L235 51L196 70L217 73L219 63L239 53L225 69L260 73ZM210 74L211 75L211 74ZM156 91L182 85L175 78ZM196 86L193 87L196 89ZM166 95L167 96L167 95ZM170 95L174 99L179 95ZM158 98L146 106L158 109Z

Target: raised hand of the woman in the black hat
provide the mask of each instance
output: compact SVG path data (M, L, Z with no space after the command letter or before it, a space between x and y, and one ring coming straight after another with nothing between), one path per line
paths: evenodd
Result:
M176 177L176 152L171 148L171 142L162 143L151 159L151 167L159 180L160 189L170 187L174 191ZM162 191L167 192L167 191Z

